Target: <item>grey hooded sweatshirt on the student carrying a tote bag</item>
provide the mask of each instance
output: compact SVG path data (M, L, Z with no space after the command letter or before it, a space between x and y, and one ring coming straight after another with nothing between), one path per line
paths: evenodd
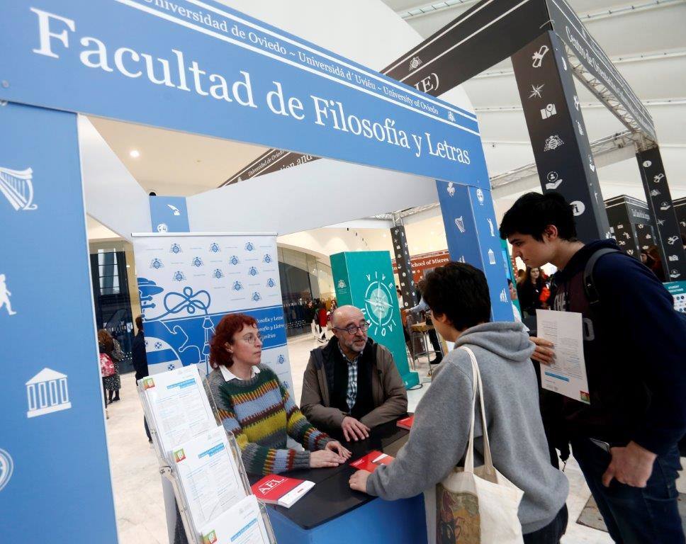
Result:
M524 492L519 522L524 534L545 527L567 499L567 477L550 463L539 412L534 344L522 323L484 323L464 331L434 372L415 412L410 438L390 465L367 480L367 493L386 500L413 497L463 466L469 439L472 349L483 382L493 465ZM477 401L474 463L483 465L483 430ZM478 437L478 438L476 438Z

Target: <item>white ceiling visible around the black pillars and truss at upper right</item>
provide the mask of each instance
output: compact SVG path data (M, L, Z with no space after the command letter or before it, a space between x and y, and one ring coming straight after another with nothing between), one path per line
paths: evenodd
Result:
M445 2L383 1L405 17L407 12L420 8L429 11L405 18L423 38L428 38L476 4L475 0L459 0L454 6L441 8ZM672 197L686 196L686 34L683 31L686 1L568 2L646 104L656 124ZM625 130L585 87L578 81L575 84L591 141ZM500 62L467 81L463 87L478 115L490 175L532 163L534 154L510 60ZM602 167L598 174L603 198L629 194L645 200L634 159ZM538 188L534 185L532 189ZM519 194L500 198L496 203L498 211L507 208Z

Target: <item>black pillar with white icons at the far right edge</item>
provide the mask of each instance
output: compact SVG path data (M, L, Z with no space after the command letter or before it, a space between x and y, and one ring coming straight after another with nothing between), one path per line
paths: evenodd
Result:
M681 244L679 222L670 195L660 148L636 153L648 208L655 221L656 246L660 249L666 281L686 279L686 252Z

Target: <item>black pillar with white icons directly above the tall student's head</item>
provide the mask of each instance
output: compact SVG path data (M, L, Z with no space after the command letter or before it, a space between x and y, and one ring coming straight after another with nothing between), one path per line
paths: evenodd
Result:
M544 193L572 206L583 242L609 237L595 163L564 45L550 30L512 55Z

